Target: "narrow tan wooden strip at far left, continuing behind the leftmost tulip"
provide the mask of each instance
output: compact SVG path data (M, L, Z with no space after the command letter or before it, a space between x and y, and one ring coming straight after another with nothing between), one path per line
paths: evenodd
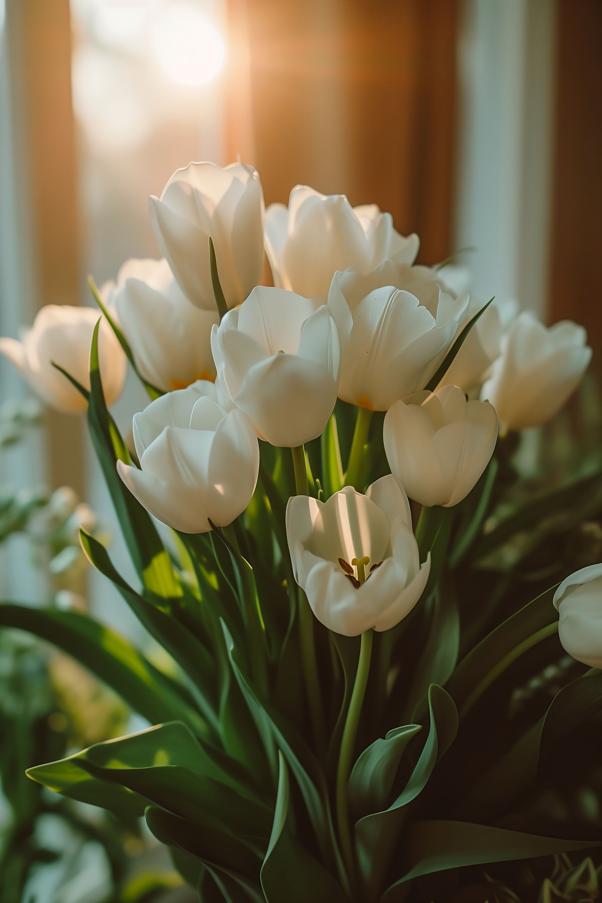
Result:
M37 307L79 303L69 0L7 0L13 102L23 118ZM49 411L52 487L84 491L82 420Z

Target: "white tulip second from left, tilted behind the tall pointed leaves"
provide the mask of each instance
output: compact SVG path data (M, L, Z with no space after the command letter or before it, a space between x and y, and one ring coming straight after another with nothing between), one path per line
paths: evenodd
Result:
M128 260L116 283L101 290L134 354L140 373L169 392L216 377L211 327L218 312L201 311L182 293L162 260Z

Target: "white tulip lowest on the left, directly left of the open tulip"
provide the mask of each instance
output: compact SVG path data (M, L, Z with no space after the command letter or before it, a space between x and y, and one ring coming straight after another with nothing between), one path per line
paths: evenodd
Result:
M213 383L199 380L134 415L142 470L117 461L125 486L163 524L207 533L231 524L255 492L259 445L242 411L227 414Z

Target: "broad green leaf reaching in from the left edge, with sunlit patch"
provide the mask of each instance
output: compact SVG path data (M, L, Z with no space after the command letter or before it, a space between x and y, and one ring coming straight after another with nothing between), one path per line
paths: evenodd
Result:
M162 675L113 630L73 611L0 605L0 626L28 630L73 656L152 722L185 721L199 736L208 725L182 698L183 688Z

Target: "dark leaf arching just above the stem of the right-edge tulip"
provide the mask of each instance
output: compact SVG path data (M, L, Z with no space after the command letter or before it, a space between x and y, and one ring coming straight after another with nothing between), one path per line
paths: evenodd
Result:
M545 628L550 628L558 614L551 604L551 594L555 587L546 590L533 601L528 602L511 618L492 630L459 663L446 684L448 693L458 706L458 710L468 712L475 700L477 688L486 682L493 669L507 656L514 656L521 644L528 641Z

